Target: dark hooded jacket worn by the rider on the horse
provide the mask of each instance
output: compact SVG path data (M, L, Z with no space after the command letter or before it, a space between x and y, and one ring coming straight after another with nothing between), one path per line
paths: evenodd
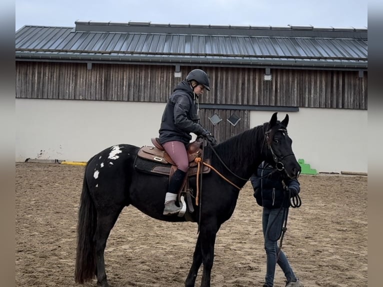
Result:
M193 102L193 90L185 81L181 81L173 90L162 114L159 127L161 144L177 140L188 144L190 132L201 135L204 128L198 123L197 107Z

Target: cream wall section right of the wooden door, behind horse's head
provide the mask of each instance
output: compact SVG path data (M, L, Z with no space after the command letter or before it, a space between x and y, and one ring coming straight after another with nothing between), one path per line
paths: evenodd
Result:
M296 158L320 172L367 172L367 110L299 108L287 112ZM282 120L286 112L278 112ZM266 122L271 111L251 111L250 126Z

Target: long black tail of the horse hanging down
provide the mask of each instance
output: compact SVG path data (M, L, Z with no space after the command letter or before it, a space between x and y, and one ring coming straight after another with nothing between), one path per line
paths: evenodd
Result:
M90 158L89 161L91 159L92 158ZM86 182L86 168L89 161L85 166L77 222L77 251L74 280L76 283L80 284L91 280L96 274L96 257L93 236L96 229L97 214Z

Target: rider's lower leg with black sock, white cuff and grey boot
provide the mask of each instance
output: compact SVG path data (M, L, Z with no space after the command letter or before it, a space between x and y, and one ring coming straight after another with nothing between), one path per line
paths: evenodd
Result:
M169 188L165 196L165 208L163 209L163 215L176 214L181 210L182 206L178 207L175 205L175 199L179 189L182 186L183 179L185 178L186 172L177 169L170 178Z

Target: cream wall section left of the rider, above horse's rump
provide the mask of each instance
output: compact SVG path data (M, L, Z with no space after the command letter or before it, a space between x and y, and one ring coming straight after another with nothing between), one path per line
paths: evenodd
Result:
M87 161L119 143L151 145L164 103L16 99L16 161ZM40 150L42 154L39 155Z

